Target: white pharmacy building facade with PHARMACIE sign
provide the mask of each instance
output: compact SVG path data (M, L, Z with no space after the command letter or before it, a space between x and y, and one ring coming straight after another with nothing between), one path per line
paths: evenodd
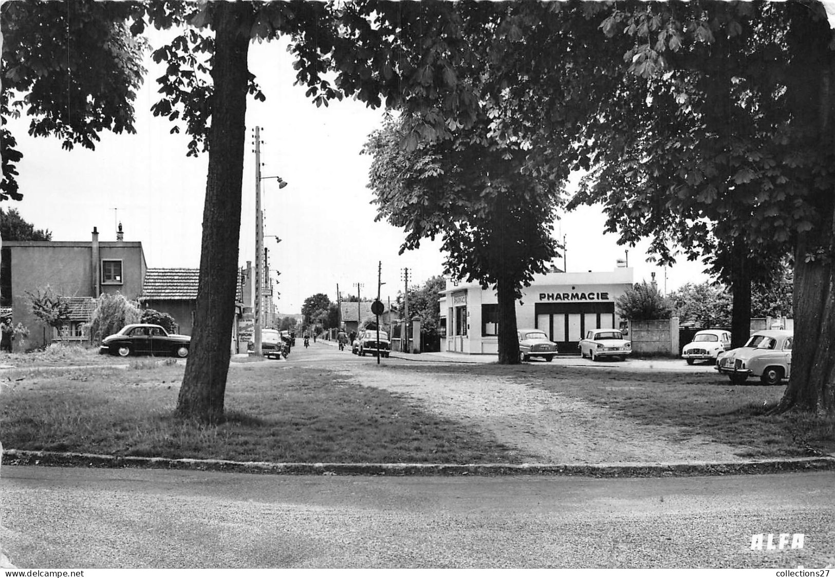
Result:
M633 270L545 273L534 276L516 302L516 326L541 329L560 353L576 353L590 329L620 327L615 300L633 286ZM441 293L441 317L448 352L498 354L498 300L493 288L477 282L447 281ZM445 343L444 343L445 342Z

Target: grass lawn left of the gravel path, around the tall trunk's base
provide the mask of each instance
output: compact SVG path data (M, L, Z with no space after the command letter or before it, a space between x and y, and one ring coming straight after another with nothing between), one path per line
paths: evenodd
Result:
M7 449L271 462L512 463L514 451L407 399L328 371L233 363L226 421L173 415L184 366L20 368L3 374Z

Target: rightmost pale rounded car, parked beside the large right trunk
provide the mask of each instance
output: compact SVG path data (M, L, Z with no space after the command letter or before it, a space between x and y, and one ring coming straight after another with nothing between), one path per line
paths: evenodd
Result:
M781 329L755 332L742 347L720 353L716 370L741 385L747 378L760 378L763 385L777 385L792 373L794 334Z

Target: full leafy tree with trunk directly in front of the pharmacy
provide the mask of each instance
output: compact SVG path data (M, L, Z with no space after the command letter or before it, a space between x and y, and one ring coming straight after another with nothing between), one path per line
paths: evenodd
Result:
M483 116L453 139L408 150L401 145L407 124L392 121L372 134L364 151L373 157L369 187L377 220L405 231L400 252L441 236L445 273L496 286L504 329L499 363L518 363L515 300L557 255L552 231L561 189L524 170L518 143L488 139L489 124Z

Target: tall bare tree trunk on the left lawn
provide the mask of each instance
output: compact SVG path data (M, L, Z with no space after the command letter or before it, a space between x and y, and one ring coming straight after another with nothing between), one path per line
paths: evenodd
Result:
M200 281L191 350L177 399L177 413L210 423L223 417L235 318L251 19L248 3L215 4Z

